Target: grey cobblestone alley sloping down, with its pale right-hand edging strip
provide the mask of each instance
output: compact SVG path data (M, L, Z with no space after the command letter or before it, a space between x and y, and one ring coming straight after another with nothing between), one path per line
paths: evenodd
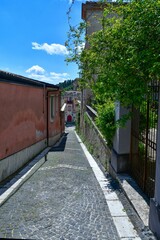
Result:
M93 172L96 163L89 162L68 127L47 161L0 207L0 238L142 239L109 179L101 181L100 169Z

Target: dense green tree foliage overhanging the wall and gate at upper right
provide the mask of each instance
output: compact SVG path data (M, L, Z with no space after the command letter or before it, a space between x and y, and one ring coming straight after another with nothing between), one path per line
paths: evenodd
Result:
M116 100L127 107L139 106L149 95L149 83L160 76L160 1L103 6L102 30L87 36L89 48L81 54L72 52L70 60L79 62L82 85L92 89L97 109ZM84 25L79 26L82 29ZM69 42L78 45L79 35L76 38L71 30ZM103 119L103 111L99 114Z

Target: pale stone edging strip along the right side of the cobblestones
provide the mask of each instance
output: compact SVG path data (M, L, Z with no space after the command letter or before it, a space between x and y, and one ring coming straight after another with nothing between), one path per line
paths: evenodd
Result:
M111 217L113 219L120 239L140 240L141 238L139 237L137 231L134 229L134 226L131 223L129 217L127 216L116 192L108 187L108 185L110 185L109 180L105 177L92 155L88 152L86 146L82 143L80 137L77 135L76 132L75 134L104 193L106 203L108 205Z

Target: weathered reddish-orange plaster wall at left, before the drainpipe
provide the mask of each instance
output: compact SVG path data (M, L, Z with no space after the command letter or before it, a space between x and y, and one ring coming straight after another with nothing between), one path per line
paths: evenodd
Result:
M47 136L44 89L0 83L0 159Z

